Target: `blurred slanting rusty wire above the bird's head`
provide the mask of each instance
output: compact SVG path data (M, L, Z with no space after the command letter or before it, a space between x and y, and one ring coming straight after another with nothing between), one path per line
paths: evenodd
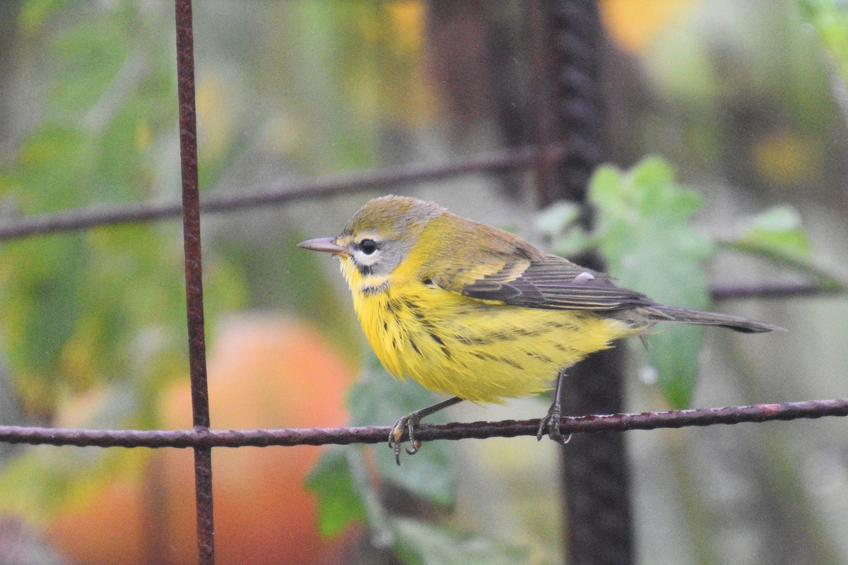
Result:
M458 163L411 164L364 173L343 174L326 179L306 180L292 185L254 186L236 193L212 193L203 197L200 211L226 212L256 208L283 202L329 197L346 192L376 191L417 182L444 180L463 174L478 174L522 169L538 161L558 161L565 156L560 146L516 147L479 153ZM95 204L57 213L0 219L0 241L87 230L104 225L176 219L182 213L181 202L127 202Z

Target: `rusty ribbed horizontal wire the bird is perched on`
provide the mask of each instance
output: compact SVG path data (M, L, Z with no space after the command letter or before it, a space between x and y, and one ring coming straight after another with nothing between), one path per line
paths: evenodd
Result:
M573 416L561 419L565 434L631 429L683 428L742 424L824 416L848 416L848 398L782 404L695 408L667 412ZM536 435L539 420L502 420L471 424L421 424L416 439L482 440L489 437ZM0 441L51 446L97 447L267 447L382 443L390 427L286 429L66 429L0 426Z

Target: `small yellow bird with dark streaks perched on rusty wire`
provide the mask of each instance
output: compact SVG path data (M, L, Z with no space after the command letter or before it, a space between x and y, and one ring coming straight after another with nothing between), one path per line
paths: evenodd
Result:
M717 325L747 333L777 326L721 313L668 307L613 284L607 274L539 251L517 235L460 218L415 198L375 198L342 235L304 241L341 261L368 342L390 374L452 398L407 414L389 446L420 443L421 418L463 400L499 402L550 390L538 429L564 443L566 368L611 341L656 322Z

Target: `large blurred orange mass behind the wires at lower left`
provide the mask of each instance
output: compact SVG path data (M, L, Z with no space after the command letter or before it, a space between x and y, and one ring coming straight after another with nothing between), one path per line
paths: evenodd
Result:
M240 318L219 332L209 357L213 427L340 426L354 369L321 335L297 322ZM163 396L166 428L191 427L187 384ZM320 449L213 450L215 552L222 563L326 562L337 544L321 540L315 498L304 490ZM193 451L163 449L143 484L114 481L50 524L55 546L80 565L196 563ZM153 561L151 561L153 560Z

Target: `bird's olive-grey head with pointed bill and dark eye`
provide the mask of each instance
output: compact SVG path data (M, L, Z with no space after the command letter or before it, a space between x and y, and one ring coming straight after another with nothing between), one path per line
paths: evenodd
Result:
M385 275L406 258L427 222L444 213L437 204L416 198L379 197L360 208L341 235L303 241L298 246L332 253L341 259L343 268L354 267L362 276Z

